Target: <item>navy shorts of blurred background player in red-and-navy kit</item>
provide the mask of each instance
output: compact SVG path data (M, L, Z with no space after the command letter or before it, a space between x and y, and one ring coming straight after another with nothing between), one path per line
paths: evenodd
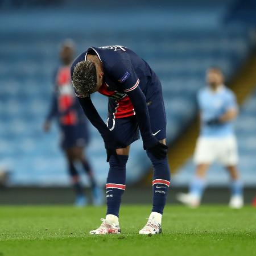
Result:
M72 147L85 147L89 142L86 125L64 125L60 127L60 146L63 150Z

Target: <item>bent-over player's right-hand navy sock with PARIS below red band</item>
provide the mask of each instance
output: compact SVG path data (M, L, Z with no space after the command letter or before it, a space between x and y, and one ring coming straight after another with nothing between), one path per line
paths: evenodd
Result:
M170 186L170 168L167 157L158 160L147 151L147 155L150 158L153 167L154 175L152 181L153 187L153 208L152 212L158 212L163 214L164 205L166 205L166 199L168 189Z

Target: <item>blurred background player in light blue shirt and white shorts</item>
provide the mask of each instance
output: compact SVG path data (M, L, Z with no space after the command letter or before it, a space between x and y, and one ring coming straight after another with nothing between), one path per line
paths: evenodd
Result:
M242 183L237 170L238 152L233 121L237 117L236 96L224 85L220 68L207 70L207 88L199 91L197 102L200 109L201 131L197 139L194 160L196 174L189 193L180 193L177 200L191 207L200 205L205 188L205 174L215 160L223 164L231 179L229 206L243 206Z

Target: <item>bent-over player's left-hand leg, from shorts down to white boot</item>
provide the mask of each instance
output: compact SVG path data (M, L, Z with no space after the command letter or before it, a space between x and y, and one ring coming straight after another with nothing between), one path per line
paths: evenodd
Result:
M109 173L106 180L106 219L102 219L100 228L90 234L120 233L119 209L126 188L126 163L129 156L130 144L139 139L138 123L135 117L110 120L108 126L112 132L127 146L118 148L117 154L110 156Z

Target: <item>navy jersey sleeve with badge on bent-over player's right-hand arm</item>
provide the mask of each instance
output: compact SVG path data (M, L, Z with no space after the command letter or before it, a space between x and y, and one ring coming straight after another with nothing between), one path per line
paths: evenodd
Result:
M121 86L124 92L131 92L139 86L139 79L129 60L118 61L110 68L110 75Z

